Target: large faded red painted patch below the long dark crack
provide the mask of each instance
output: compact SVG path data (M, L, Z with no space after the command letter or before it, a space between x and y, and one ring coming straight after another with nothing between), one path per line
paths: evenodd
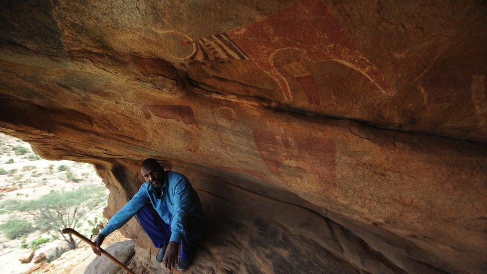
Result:
M336 150L332 140L263 129L254 129L253 137L262 161L283 182L317 183L323 191L333 189Z

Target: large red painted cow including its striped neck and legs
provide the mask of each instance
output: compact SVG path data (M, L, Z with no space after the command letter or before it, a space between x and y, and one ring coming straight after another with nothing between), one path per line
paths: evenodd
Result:
M284 49L297 49L311 61L335 61L357 70L383 94L393 95L388 81L353 43L319 0L300 0L261 21L201 38L193 43L191 60L251 59L278 84L285 100L291 101L288 80L276 69L273 57ZM304 89L310 104L319 104L317 83L299 63L288 72Z

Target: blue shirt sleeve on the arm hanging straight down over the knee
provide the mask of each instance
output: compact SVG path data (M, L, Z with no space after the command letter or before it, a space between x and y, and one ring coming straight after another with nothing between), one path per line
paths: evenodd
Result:
M171 220L171 239L169 241L179 243L179 240L186 234L185 225L191 208L191 186L188 179L181 176L173 191L175 211Z

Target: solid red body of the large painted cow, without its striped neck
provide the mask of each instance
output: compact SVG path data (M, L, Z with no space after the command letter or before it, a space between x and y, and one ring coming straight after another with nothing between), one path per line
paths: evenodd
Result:
M276 80L287 100L292 99L287 80L272 63L272 55L285 48L302 49L313 61L333 60L347 65L364 74L384 94L394 94L377 67L363 56L319 0L298 1L274 15L231 30L228 34L250 59ZM314 85L311 78L306 77L306 82L301 82L313 82Z

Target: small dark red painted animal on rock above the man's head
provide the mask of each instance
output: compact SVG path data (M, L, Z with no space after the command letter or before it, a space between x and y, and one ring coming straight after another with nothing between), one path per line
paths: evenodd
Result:
M172 119L187 125L196 125L195 114L190 106L184 105L145 105L142 112L146 119L151 118L151 113L163 119Z

